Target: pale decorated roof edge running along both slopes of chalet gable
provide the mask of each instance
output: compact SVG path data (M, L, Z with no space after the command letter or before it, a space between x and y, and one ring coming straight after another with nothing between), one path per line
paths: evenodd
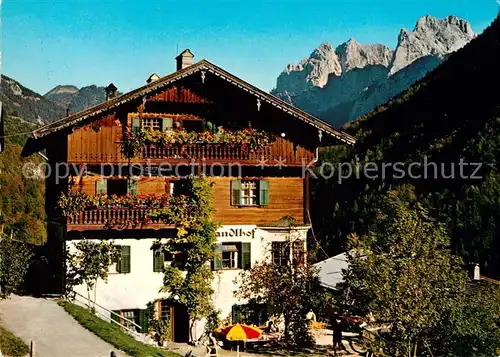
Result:
M337 138L338 140L341 140L347 144L354 144L356 142L356 139L340 130L337 130L330 126L328 123L312 116L311 114L306 113L305 111L294 107L293 105L286 103L285 101L264 92L263 90L251 85L250 83L247 83L243 81L242 79L232 75L229 72L226 72L222 68L214 65L213 63L207 61L207 60L201 60L200 62L197 62L189 67L186 67L184 69L181 69L177 72L171 73L169 75L166 75L156 81L153 81L151 83L148 83L140 88L137 88L135 90L132 90L128 93L122 94L118 97L112 98L104 103L98 104L94 107L87 108L85 110L82 110L78 113L72 114L66 118L60 119L58 121L55 121L51 124L45 125L36 131L33 132L33 135L35 138L38 137L43 137L49 134L52 134L54 132L60 131L65 128L77 126L81 121L86 120L88 118L91 118L93 116L99 115L101 113L107 112L112 110L113 108L116 108L122 104L128 103L130 101L136 100L138 98L142 98L145 95L157 91L161 89L162 87L165 87L167 85L170 85L182 78L185 78L187 76L190 76L194 73L200 72L200 71L207 71L215 76L226 80L233 85L237 86L238 88L241 88L251 95L254 95L255 97L259 98L262 101L265 101L276 108L284 111L285 113L288 113L299 120L302 120L303 122L312 125L316 127L319 130L324 131L325 133Z

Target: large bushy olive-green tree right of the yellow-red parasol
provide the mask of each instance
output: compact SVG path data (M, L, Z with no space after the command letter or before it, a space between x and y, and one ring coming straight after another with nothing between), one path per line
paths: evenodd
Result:
M356 305L389 325L384 351L409 355L465 291L467 275L442 225L414 200L412 188L379 204L372 232L349 239L347 281ZM408 350L410 349L410 350Z

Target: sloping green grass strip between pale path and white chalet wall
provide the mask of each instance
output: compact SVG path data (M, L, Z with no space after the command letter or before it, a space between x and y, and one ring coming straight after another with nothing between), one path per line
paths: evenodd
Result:
M157 347L149 346L136 341L132 336L127 335L117 325L106 322L89 309L77 306L67 301L58 303L66 310L80 325L87 330L92 331L102 340L116 347L120 351L124 351L134 357L174 357L179 356L177 353L168 352Z

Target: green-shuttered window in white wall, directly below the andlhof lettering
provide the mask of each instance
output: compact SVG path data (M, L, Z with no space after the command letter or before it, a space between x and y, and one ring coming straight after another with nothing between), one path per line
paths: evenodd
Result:
M218 244L214 252L213 269L250 269L250 243Z

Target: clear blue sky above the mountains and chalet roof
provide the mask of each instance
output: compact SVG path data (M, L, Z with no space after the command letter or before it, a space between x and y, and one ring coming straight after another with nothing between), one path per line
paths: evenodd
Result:
M152 72L173 72L174 57L190 48L195 60L270 90L287 63L322 42L394 48L400 29L425 14L454 14L481 32L497 12L495 0L4 0L2 71L41 94L110 82L125 92Z

